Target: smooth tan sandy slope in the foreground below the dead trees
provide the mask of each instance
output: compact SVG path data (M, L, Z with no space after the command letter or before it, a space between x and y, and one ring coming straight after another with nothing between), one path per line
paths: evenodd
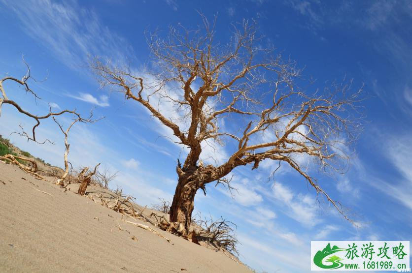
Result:
M0 163L0 272L250 272L221 252L155 229L171 243Z

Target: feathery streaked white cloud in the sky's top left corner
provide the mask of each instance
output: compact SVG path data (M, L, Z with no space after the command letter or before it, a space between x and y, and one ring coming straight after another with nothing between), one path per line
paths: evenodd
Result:
M134 58L132 47L123 37L109 30L92 9L81 7L75 0L2 3L21 21L23 31L70 68L78 69L89 54L123 63Z

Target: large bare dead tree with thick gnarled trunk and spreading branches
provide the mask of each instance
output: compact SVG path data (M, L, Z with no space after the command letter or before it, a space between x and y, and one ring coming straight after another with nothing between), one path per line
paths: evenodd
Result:
M273 47L262 48L265 41L254 23L233 24L226 44L215 40L214 24L206 18L203 23L197 30L171 28L164 38L148 34L154 61L140 74L99 58L91 61L102 87L141 104L187 148L176 167L171 222L183 224L186 235L198 189L206 194L210 182L229 184L232 170L248 164L256 169L263 160L293 168L350 221L297 158L313 158L322 171L344 169L343 147L356 138L362 88L352 91L350 80L322 91L316 83L300 88L304 79L295 62L284 61ZM237 126L223 127L222 119ZM231 155L204 164L202 144L223 141Z

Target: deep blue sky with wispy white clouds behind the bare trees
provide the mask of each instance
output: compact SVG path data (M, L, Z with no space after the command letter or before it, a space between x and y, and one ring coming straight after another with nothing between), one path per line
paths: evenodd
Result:
M172 199L176 159L182 148L170 132L140 105L121 94L99 89L85 67L88 56L109 57L140 67L147 61L144 30L167 30L182 23L200 24L198 11L217 14L217 35L228 25L254 18L268 43L305 67L318 83L346 75L354 85L365 83L365 129L344 175L319 177L335 199L348 207L362 228L344 221L330 206L316 201L314 190L293 171L282 168L274 182L273 164L234 172L239 188L234 199L223 188L207 186L195 210L237 224L240 259L257 270L308 272L311 240L412 239L412 2L410 1L3 1L0 0L0 74L22 77L22 54L37 79L34 99L21 88L6 85L9 98L36 113L77 108L106 118L73 127L69 160L74 166L102 162L120 171L114 182L142 205ZM27 120L3 105L0 134L16 145L63 166L63 136L52 121L39 138L56 145L36 145L14 134ZM170 113L172 114L172 113ZM62 119L61 121L68 120ZM166 137L165 137L166 136ZM213 152L212 150L208 152ZM184 152L183 152L184 154ZM217 157L224 158L225 148ZM113 186L114 186L113 185ZM297 264L295 261L303 261Z

